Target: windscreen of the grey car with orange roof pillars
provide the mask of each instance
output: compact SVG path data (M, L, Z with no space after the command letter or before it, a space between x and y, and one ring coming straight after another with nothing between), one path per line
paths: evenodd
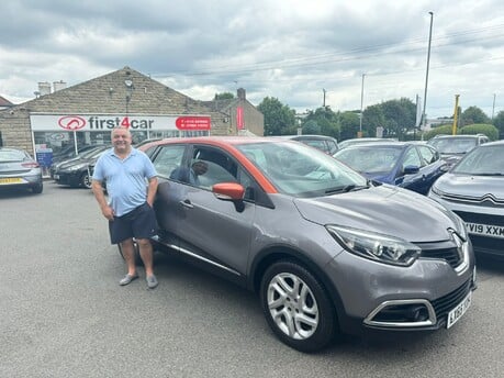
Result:
M300 143L247 143L237 148L284 194L321 197L368 185L355 170Z

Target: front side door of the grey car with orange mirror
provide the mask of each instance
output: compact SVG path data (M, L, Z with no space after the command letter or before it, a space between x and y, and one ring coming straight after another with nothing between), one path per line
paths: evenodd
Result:
M232 201L217 199L212 186L234 181L247 188L251 178L233 156L220 148L194 145L191 155L193 160L205 162L209 169L201 175L200 184L183 184L177 199L180 249L242 276L246 273L256 205L246 200L238 209Z

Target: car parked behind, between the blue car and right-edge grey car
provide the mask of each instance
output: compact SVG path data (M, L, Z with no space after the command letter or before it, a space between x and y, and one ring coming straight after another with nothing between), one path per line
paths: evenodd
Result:
M427 144L435 147L441 158L455 165L464 154L475 146L489 143L490 138L484 134L466 134L466 135L441 135L438 134L430 138Z

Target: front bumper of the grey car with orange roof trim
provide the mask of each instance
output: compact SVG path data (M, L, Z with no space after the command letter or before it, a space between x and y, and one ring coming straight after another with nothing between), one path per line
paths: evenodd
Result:
M472 252L468 259L466 268L457 273L443 259L419 258L411 267L396 267L347 252L338 255L327 269L343 307L341 329L360 333L366 329L446 327L450 311L461 307L464 312L477 287Z

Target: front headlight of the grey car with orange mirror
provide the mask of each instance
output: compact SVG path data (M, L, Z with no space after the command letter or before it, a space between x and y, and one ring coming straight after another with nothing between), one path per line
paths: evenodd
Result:
M348 252L381 263L410 266L422 252L418 246L394 236L339 225L326 229Z

